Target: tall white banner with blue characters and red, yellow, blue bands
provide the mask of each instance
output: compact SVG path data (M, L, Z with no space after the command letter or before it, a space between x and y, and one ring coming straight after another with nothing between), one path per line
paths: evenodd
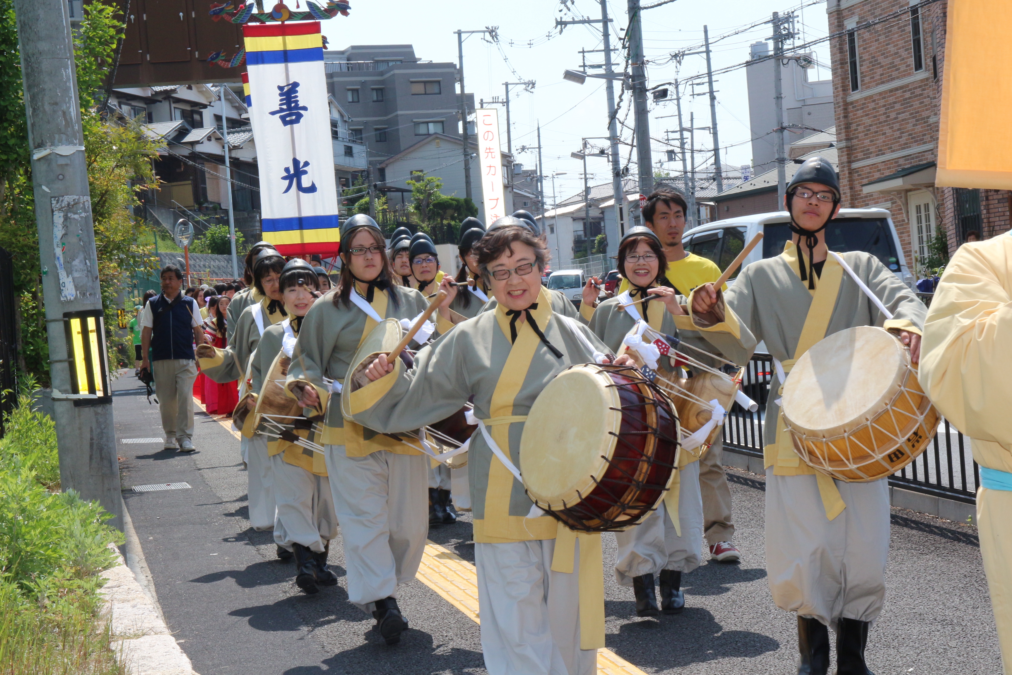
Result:
M263 238L282 255L335 255L337 189L320 23L244 25L243 35Z

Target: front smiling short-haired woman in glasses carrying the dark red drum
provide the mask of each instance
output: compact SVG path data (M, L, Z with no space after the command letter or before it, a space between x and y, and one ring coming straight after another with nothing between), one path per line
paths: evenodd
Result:
M485 425L471 440L468 469L486 668L493 675L593 673L604 646L600 535L577 535L532 509L510 467L519 463L524 420L538 394L607 347L554 311L540 279L547 252L528 228L500 224L475 246L495 310L419 352L410 370L384 354L366 358L359 367L372 382L342 396L356 422L381 431L417 429L474 397Z

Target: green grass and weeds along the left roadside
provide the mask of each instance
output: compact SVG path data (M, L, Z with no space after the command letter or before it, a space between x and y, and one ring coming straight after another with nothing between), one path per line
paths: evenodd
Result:
M56 430L33 388L0 439L0 675L120 675L97 591L122 534L97 503L57 492Z

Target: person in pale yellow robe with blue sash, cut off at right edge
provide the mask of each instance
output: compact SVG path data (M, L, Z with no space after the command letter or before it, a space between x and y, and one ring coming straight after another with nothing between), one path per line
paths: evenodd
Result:
M1006 675L1012 675L1012 234L959 247L924 325L919 379L981 466L977 526Z

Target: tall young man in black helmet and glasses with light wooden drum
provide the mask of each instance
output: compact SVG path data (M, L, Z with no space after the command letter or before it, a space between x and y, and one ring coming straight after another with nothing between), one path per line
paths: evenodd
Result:
M889 485L834 480L800 460L780 417L778 392L794 361L816 342L847 328L882 326L920 356L924 304L873 255L842 258L893 313L887 320L828 254L846 224L830 224L840 207L836 170L821 157L797 168L784 196L790 241L775 258L745 267L726 293L728 307L766 343L775 359L766 413L766 570L773 601L797 614L798 673L826 673L827 626L837 632L839 675L868 675L868 627L886 595L890 540ZM693 292L693 312L718 299L712 284ZM855 364L860 367L860 364ZM776 423L773 423L776 420Z

